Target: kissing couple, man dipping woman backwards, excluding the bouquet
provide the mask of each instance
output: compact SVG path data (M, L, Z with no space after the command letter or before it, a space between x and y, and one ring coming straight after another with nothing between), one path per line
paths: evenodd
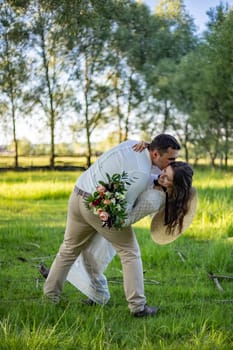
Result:
M132 315L144 317L157 313L157 307L147 305L140 248L132 224L154 214L152 238L163 244L178 237L191 222L195 206L190 209L190 204L195 203L196 198L192 188L193 171L187 163L175 161L179 150L177 140L168 134L156 136L150 144L125 141L100 156L78 178L69 199L64 240L44 285L48 300L59 302L67 276L75 285L72 269L77 272L77 280L79 269L75 270L74 264L77 258L81 266L89 266L86 271L93 272L99 266L99 271L89 274L94 280L98 273L103 277L106 264L116 252L121 260L124 291ZM99 216L87 207L87 198L100 182L107 183L109 176L122 173L133 181L126 186L127 216L119 229L103 225ZM159 234L161 230L164 231L162 236ZM102 256L98 250L100 242Z

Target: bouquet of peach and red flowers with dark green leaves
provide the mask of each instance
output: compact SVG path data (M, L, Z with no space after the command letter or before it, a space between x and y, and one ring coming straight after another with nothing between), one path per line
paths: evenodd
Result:
M126 214L126 184L128 174L110 176L106 174L108 182L99 181L96 191L87 198L87 208L98 215L103 222L102 226L120 229L127 218Z

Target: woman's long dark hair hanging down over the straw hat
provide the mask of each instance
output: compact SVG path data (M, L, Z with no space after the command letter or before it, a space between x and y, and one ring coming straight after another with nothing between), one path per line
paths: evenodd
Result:
M179 232L183 227L183 219L188 211L188 201L191 197L193 170L184 162L172 162L169 164L173 171L173 188L167 196L165 225L169 234L172 234L178 225Z

